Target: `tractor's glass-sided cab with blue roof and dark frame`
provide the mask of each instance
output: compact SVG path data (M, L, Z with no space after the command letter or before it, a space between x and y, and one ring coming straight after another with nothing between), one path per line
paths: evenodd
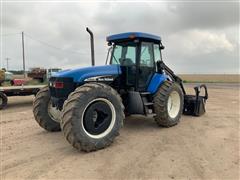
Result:
M161 44L159 36L128 32L107 37L111 46L108 64L120 65L123 85L135 91L146 91L153 75L156 63L161 60Z

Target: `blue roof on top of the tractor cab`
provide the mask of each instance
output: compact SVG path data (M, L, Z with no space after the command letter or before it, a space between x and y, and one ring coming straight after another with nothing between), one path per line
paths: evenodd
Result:
M147 39L150 41L157 41L160 42L161 38L159 36L148 34L148 33L142 33L142 32L127 32L127 33L121 33L121 34L114 34L107 36L108 42L117 42L127 39Z

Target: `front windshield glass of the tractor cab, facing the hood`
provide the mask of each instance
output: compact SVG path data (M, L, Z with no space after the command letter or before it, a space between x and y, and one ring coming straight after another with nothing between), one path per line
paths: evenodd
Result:
M121 66L131 66L136 64L136 46L135 44L117 44L113 46L111 64L120 64Z

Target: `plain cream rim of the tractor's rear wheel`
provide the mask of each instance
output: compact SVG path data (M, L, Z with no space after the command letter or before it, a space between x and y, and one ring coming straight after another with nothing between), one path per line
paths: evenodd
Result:
M168 97L168 115L175 118L180 111L180 95L177 91L172 91Z

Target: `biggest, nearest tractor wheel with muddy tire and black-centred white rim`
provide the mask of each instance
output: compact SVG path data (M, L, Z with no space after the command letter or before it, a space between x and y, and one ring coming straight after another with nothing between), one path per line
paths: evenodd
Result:
M123 126L124 106L110 86L87 83L64 102L61 128L76 149L90 152L109 146Z

